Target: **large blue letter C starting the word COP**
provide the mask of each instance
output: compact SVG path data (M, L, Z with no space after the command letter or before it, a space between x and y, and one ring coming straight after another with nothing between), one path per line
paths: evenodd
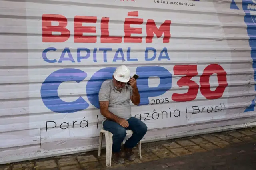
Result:
M80 83L87 74L80 69L60 69L50 74L42 83L41 97L44 105L53 112L74 113L89 107L89 104L80 96L76 101L65 102L58 96L58 87L65 81Z

